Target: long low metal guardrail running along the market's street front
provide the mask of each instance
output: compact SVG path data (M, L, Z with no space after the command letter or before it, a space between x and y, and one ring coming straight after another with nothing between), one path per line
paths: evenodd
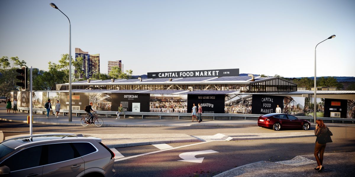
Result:
M29 108L17 107L18 110L29 113ZM33 108L34 113L46 114L47 110L43 108ZM67 115L69 110L61 109L60 112L62 115ZM76 116L86 115L84 110L72 110L72 113L75 113ZM55 114L55 112L53 112ZM109 116L116 116L115 111L97 111L99 115L105 115L107 118ZM141 119L192 119L191 113L154 113L154 112L123 112L121 115L126 118L129 116L131 118L141 118ZM262 114L202 114L203 119L205 120L257 120ZM305 119L310 122L313 122L313 117L307 116L297 116L297 118ZM355 124L355 119L345 119L345 118L318 118L322 119L325 123L337 123L337 124Z

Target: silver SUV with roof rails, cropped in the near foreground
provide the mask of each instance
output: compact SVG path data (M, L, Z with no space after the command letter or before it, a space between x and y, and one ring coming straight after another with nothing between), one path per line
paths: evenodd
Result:
M115 154L100 138L71 133L16 137L0 143L0 177L112 177Z

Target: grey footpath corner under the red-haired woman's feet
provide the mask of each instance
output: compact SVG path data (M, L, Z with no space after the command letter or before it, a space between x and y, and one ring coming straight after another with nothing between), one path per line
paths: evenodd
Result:
M350 177L355 174L355 152L324 154L324 170L318 172L315 157L299 155L291 160L268 162L259 161L236 167L214 177Z

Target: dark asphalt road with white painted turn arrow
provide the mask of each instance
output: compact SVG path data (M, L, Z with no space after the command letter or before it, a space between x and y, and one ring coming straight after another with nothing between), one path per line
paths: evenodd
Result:
M326 153L355 151L355 127L330 127L330 129L334 135L332 137L333 143L327 144ZM3 132L4 137L26 134L29 131L29 125L0 121L0 130ZM282 132L294 131L302 130L285 130ZM82 127L40 124L33 125L33 132L94 134L185 133L187 135L242 132L274 133L273 130L261 127ZM179 148L171 148L161 152L159 152L160 149L153 145L116 148L125 158L116 161L114 168L116 176L207 177L256 161L282 161L292 159L297 155L313 154L314 143L315 137L302 137L229 142L173 143L169 145ZM216 153L196 155L196 158L204 158L202 163L178 161L182 160L179 157L181 153L203 150L213 150ZM152 154L141 155L144 153ZM141 156L130 158L133 155Z

